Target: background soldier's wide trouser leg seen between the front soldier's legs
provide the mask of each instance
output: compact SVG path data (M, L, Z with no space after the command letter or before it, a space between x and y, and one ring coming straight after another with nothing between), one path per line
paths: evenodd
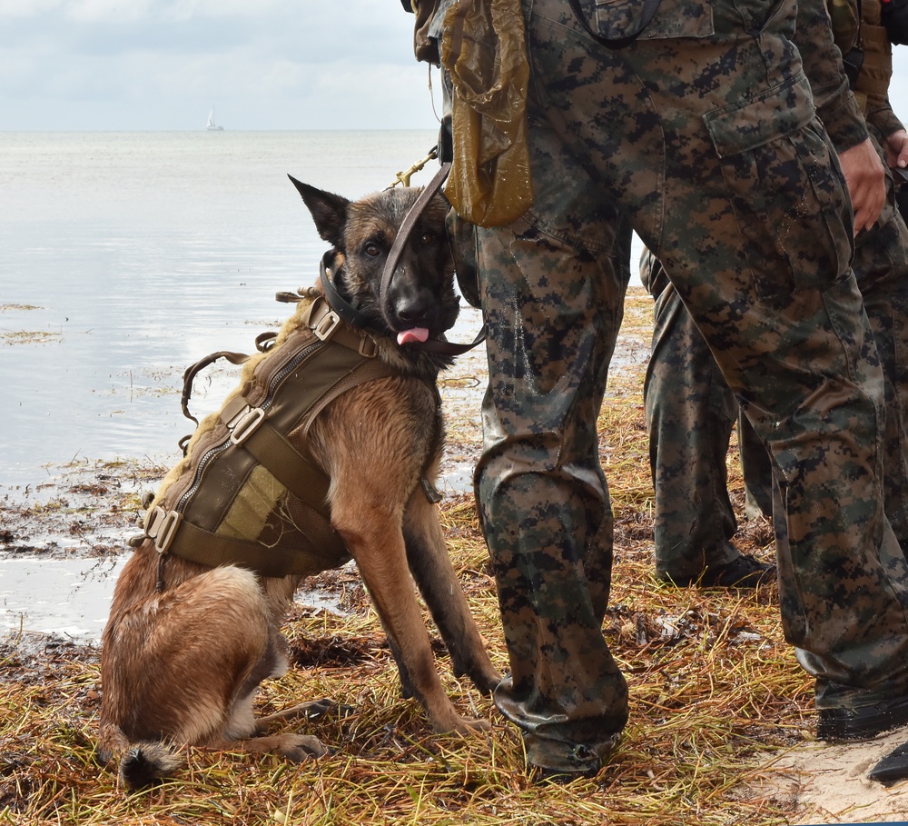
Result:
M644 383L649 464L656 496L656 576L689 582L706 566L740 556L728 499L725 456L735 396L656 261L647 285L656 299Z

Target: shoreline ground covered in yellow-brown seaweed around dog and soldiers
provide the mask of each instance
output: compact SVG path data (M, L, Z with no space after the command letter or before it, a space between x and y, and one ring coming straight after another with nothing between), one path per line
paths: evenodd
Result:
M403 716L390 718L393 722L386 718L371 723L354 715L352 723L337 722L341 728L329 731L329 738L343 744L338 757L318 761L314 768L307 768L309 764L278 768L274 776L280 775L281 784L290 788L281 791L288 812L288 793L291 799L308 801L307 807L317 805L311 790L321 788L332 771L340 772L351 789L369 789L373 781L358 772L380 760L390 761L384 771L391 787L380 791L383 800L393 798L399 782L395 778L404 778L404 771L416 775L403 782L425 788L427 802L416 811L408 808L409 797L398 802L407 812L403 818L407 822L418 815L422 821L427 811L434 811L429 800L449 801L441 806L447 812L443 819L449 818L450 811L461 811L481 823L516 824L511 818L500 819L511 808L538 822L598 823L606 815L586 819L583 812L600 803L606 809L617 807L617 814L607 819L617 817L627 826L695 821L717 826L729 822L729 817L761 826L901 822L908 818L908 783L885 789L864 777L883 753L908 737L908 731L848 746L813 740L811 682L782 639L775 588L741 594L701 592L667 589L652 579L652 489L640 402L651 319L648 295L642 289L632 291L610 372L607 409L599 423L605 434L600 440L602 462L616 512L616 573L606 632L609 647L627 672L633 706L631 723L613 759L596 779L570 784L563 791L528 786L520 768L522 747L513 727L496 716L488 698L469 697L466 702L470 707L477 703L479 713L493 722L489 737L495 744L495 761L489 761L485 741L454 743L425 731L419 709L414 710L412 701L399 696L396 668L355 567L345 566L311 578L298 592L286 626L295 667L273 686L269 681L260 702L273 708L315 692L318 696L365 694L376 712L385 713L382 710L391 706L397 709L393 714ZM478 353L461 357L442 378L449 436L442 467L446 498L441 507L446 520L454 520L446 522L446 532L471 608L490 652L500 658L494 582L469 491L469 469L480 447L479 399L484 383L484 359ZM178 402L174 399L173 403ZM733 501L742 513L740 478L731 459L729 470ZM99 576L106 576L105 585L112 590L115 562L123 560L128 552L125 538L136 531L139 496L156 487L166 471L165 464L149 457L113 463L86 459L54 469L53 474L48 471L46 483L26 485L17 492L0 491L0 564L34 562L49 570L55 562L81 561ZM19 494L18 501L14 493ZM460 547L464 540L469 548L466 556ZM765 522L742 519L735 541L746 552L765 554L771 552L773 538ZM46 581L46 576L41 577L37 588ZM94 755L101 691L98 654L96 640L80 642L64 634L30 632L25 624L21 631L0 632L0 662L4 665L0 712L8 712L7 721L17 721L10 733L0 736L0 768L2 752L15 762L8 780L0 771L0 822L5 812L15 817L16 807L31 805L27 798L22 802L18 797L20 788L32 790L28 794L35 798L38 809L53 806L50 801L42 802L40 771L51 772L54 788L58 783L79 788L85 799L102 795L104 811L113 806L112 812L120 812L119 821L138 822L122 819L123 806L132 806L130 799L116 786L115 776L97 765ZM334 681L339 682L334 685ZM454 690L460 691L459 683ZM374 692L380 695L377 701ZM19 702L24 703L21 710L16 705ZM349 725L352 731L343 728ZM367 735L373 726L379 733ZM45 728L53 732L67 727L77 734L65 746L48 743L47 737L53 734L40 733ZM28 743L41 743L40 751L29 754ZM414 751L396 743L415 743ZM448 768L429 781L425 772L436 771L431 767L438 765L438 758L429 757L428 768L422 768L420 755L423 760L425 755L437 755L439 747ZM66 750L75 750L75 754ZM353 752L344 756L343 750ZM273 784L268 776L275 769L269 761L262 768L255 761L237 759L234 768L240 773L221 778L218 772L232 770L222 762L212 766L212 760L220 759L206 757L203 750L191 750L189 756L196 781L187 783L190 778L185 773L178 776L173 784L149 797L151 811L155 811L155 801L163 803L164 795L172 801L192 801L198 811L208 811L205 807L213 798L212 791L205 788L203 779L207 777L214 778L219 790L230 793L242 786L244 798L260 793L267 796ZM233 757L228 764L232 765ZM35 768L44 761L49 768ZM54 772L58 774L62 765L78 767L78 778L56 779ZM265 776L260 776L262 771ZM457 802L464 784L474 790L470 799L475 805ZM381 814L371 811L370 797L367 792L366 801L356 803L362 807L357 809L360 814L347 820L339 816L336 822L368 822L373 817L402 822L389 820L385 808ZM484 800L498 801L495 817L489 821L482 819ZM666 820L666 811L675 811L677 819ZM249 816L234 822L252 822ZM107 814L100 817L79 822L109 822ZM297 811L294 821L303 822L305 817ZM210 812L193 815L191 820L213 823L222 818L222 813Z

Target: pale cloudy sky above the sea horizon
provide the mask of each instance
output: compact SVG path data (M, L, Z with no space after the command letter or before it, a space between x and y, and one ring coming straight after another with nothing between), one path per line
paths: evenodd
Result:
M0 0L0 131L201 129L212 107L225 129L435 130L412 26L400 0Z

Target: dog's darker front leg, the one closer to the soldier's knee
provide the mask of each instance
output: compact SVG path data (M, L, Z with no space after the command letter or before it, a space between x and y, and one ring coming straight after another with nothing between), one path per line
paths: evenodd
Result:
M501 675L489 659L451 565L438 510L421 489L410 499L403 532L410 572L448 646L454 673L466 674L480 692L491 692Z

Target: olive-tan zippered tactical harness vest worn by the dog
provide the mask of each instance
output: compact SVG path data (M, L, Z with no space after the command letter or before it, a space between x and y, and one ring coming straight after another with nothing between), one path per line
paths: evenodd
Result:
M196 428L146 515L138 539L153 540L160 554L159 590L171 553L270 577L350 560L331 527L330 480L312 463L307 433L341 393L402 374L376 357L377 334L351 326L319 295L302 300L271 346L246 361L240 387Z

